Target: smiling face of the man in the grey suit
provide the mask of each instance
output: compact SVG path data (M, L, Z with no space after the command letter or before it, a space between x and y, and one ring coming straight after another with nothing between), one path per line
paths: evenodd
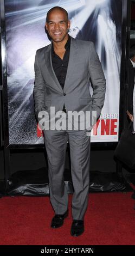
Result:
M66 14L61 10L53 10L46 22L46 29L49 36L55 42L62 42L68 35L68 29L70 28L70 21L67 21Z

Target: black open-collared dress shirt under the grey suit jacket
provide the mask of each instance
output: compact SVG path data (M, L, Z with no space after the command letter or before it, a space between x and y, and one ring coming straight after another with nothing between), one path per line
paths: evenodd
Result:
M54 47L52 44L52 65L53 65L53 69L57 77L57 80L59 81L62 89L64 88L66 75L67 75L69 53L70 53L70 36L68 37L68 40L66 42L65 49L66 49L65 54L63 56L63 59L61 59L55 53ZM66 112L65 105L63 106L63 111Z

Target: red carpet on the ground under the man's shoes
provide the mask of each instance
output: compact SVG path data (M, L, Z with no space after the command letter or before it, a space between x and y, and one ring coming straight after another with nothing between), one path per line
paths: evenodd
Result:
M85 233L70 236L69 217L59 229L51 229L54 211L49 197L0 199L1 245L135 245L135 211L132 192L89 194Z

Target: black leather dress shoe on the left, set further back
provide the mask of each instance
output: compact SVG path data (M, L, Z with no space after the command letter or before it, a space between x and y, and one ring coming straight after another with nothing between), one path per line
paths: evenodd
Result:
M63 225L64 219L68 216L68 210L65 212L65 214L56 214L52 218L52 222L50 227L51 228L60 228Z

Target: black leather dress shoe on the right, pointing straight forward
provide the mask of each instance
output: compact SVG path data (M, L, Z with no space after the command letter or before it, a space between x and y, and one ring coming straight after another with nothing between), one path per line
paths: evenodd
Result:
M79 236L85 231L84 222L82 220L73 220L70 234Z

